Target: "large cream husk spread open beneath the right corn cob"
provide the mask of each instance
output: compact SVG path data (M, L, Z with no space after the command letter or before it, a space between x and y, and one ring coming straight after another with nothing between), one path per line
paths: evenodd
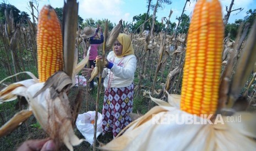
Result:
M168 124L157 124L165 121L167 115L193 118L194 115L179 109L179 95L169 95L168 103L156 98L153 101L160 106L150 109L143 117L128 125L122 135L102 146L104 150L254 150L256 148L256 114L237 112L232 117L224 117L224 124L177 124L175 120ZM175 107L176 106L176 107ZM156 118L153 118L157 116ZM226 122L237 119L241 122ZM198 121L207 120L196 116ZM195 122L195 121L194 121ZM120 132L122 133L122 132Z

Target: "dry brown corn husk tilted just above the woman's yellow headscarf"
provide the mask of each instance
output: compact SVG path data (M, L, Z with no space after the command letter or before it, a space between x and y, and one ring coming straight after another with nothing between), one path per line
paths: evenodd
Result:
M106 50L110 50L113 47L113 44L115 43L122 28L123 24L122 20L120 20L119 23L111 30L110 35L108 36Z

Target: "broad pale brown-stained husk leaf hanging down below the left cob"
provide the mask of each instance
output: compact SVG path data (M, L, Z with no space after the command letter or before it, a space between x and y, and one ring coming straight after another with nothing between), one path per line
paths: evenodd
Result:
M63 142L69 150L73 150L72 146L77 146L84 140L79 140L74 134L68 96L65 92L56 92L58 96L53 99L51 91L56 90L55 88L47 88L36 95L42 88L43 83L30 86L26 100L37 121L50 138Z

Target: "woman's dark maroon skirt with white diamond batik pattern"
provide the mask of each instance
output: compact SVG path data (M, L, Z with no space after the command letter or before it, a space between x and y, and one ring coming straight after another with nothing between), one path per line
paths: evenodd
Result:
M124 88L105 88L105 96L102 111L102 134L118 133L132 122L129 113L133 112L134 84Z

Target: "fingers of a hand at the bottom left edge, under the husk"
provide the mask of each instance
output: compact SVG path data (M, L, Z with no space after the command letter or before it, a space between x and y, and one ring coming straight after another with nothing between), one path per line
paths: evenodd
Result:
M56 145L52 140L49 140L49 138L44 140L29 140L25 141L21 146L17 149L17 151L34 151L34 150L41 150L41 151L50 151L50 150L56 150Z

